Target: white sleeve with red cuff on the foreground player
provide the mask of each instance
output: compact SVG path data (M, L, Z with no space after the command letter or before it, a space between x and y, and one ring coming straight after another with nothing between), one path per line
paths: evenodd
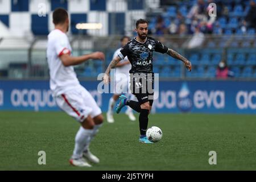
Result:
M71 55L71 50L68 49L68 40L63 36L59 36L55 39L54 47L57 55L60 57L61 55L64 55L68 53Z

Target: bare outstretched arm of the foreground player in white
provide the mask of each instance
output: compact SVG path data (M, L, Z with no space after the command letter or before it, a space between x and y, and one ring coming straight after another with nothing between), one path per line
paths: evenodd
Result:
M93 52L88 55L82 55L82 56L77 56L77 57L70 56L68 53L65 53L60 56L60 60L62 61L63 65L65 67L81 64L89 59L105 60L105 55L103 52Z

